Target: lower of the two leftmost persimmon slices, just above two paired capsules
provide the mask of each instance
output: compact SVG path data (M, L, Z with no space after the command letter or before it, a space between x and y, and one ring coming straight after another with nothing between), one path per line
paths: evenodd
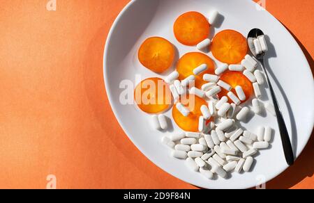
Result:
M172 104L169 86L160 78L140 82L135 88L134 99L137 106L146 113L161 113Z

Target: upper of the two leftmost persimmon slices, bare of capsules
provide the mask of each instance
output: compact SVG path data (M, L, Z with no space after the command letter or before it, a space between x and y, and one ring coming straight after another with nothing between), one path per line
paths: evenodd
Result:
M165 72L173 63L174 46L164 38L148 38L138 51L138 59L153 72Z

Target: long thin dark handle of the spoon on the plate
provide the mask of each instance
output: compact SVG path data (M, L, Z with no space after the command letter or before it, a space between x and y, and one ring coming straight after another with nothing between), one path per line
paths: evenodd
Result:
M273 99L273 102L274 102L276 117L277 117L277 121L278 121L278 127L279 127L279 131L281 133L281 142L283 143L283 152L285 153L285 160L287 161L288 165L293 165L294 155L293 155L292 145L290 142L289 133L287 132L287 127L285 126L285 120L283 120L283 114L281 113L281 109L279 108L278 101L277 101L273 86L271 86L271 82L269 80L267 70L264 67L264 61L262 61L262 60L259 60L259 61L261 63L262 69L264 70L267 84L268 84L269 90L271 92L271 98Z

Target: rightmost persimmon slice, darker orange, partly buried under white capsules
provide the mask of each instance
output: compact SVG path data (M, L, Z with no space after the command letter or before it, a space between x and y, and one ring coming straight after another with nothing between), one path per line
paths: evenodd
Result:
M237 95L237 92L235 90L237 86L241 86L241 88L243 89L244 94L246 95L246 100L250 99L250 97L253 95L253 85L251 81L248 78L246 78L246 76L244 76L244 74L242 74L241 72L233 71L225 72L220 76L220 80L230 84L230 86L232 87L231 91L235 95ZM227 93L228 91L222 88L221 92L218 94L218 97L219 98L223 96L227 97ZM229 102L232 103L232 100L230 98Z

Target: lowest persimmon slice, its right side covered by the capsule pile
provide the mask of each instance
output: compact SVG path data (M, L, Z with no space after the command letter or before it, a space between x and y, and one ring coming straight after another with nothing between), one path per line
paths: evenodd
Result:
M184 117L176 107L172 108L172 117L174 122L184 131L197 132L198 131L198 121L202 112L200 108L202 105L207 105L207 102L197 97L196 95L185 95L180 99L181 104L184 104L186 108L190 110L190 114Z

